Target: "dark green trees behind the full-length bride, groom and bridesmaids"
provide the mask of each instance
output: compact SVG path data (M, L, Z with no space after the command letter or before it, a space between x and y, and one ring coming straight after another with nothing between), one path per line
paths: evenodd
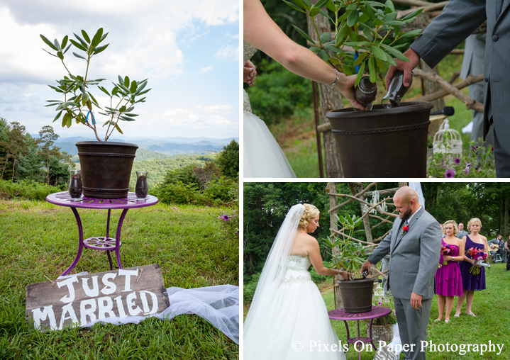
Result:
M364 183L366 187L369 183ZM275 240L289 208L296 203L311 203L321 211L318 230L313 234L321 244L322 256L328 260L323 238L330 235L329 196L327 183L244 183L243 184L243 263L245 279L260 272L272 242ZM377 189L397 188L398 183L379 183ZM482 235L489 240L501 233L508 238L510 215L509 183L421 183L425 209L439 223L455 220L467 222L479 218ZM351 195L347 184L337 184L337 193ZM385 196L381 196L382 200ZM370 198L367 198L370 201ZM388 211L395 210L389 206ZM357 202L348 203L338 210L338 215L362 215ZM379 220L370 218L373 227ZM390 229L384 224L372 230L374 239ZM359 227L362 229L362 226ZM364 240L363 233L356 236Z

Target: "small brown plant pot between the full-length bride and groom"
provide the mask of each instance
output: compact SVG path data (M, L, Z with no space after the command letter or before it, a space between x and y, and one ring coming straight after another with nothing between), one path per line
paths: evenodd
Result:
M367 313L372 310L374 279L338 281L345 313Z

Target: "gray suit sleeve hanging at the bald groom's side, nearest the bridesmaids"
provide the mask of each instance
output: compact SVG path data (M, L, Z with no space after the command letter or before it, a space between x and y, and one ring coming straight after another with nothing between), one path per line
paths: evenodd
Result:
M420 264L413 292L425 296L429 283L438 269L441 252L441 227L437 221L430 223L420 238Z

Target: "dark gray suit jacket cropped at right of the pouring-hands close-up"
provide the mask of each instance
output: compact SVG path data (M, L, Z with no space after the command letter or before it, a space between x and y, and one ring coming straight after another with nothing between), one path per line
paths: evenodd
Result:
M450 0L411 48L428 66L440 60L487 20L484 62L484 135L492 118L501 147L510 153L510 0Z

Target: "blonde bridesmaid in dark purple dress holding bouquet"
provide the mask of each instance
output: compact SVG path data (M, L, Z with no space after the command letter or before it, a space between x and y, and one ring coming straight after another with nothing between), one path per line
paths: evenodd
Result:
M475 249L483 250L485 254L489 251L489 244L487 243L487 237L479 235L479 230L482 228L482 222L478 218L472 218L467 223L467 231L471 232L470 235L462 237L465 251L469 251L471 247ZM480 271L477 275L470 273L471 266L477 266ZM457 302L457 311L454 317L459 317L460 308L464 303L464 298L467 298L466 315L475 316L471 310L473 304L473 298L475 297L475 291L485 290L485 268L481 265L475 265L475 260L471 259L468 254L464 255L464 261L460 261L460 274L462 274L462 288L464 289L464 295L459 297Z

